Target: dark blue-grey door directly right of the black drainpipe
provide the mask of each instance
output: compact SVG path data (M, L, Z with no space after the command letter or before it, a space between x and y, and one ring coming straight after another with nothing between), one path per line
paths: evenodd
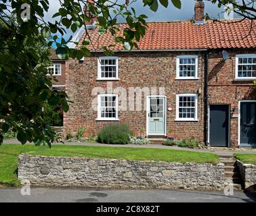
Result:
M210 105L210 145L228 147L229 105Z

